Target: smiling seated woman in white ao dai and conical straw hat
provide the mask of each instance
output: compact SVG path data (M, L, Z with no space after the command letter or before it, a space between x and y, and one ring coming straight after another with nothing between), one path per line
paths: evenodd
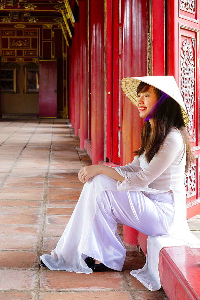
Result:
M126 250L116 229L122 223L148 235L146 265L131 274L157 290L161 248L200 247L186 221L184 173L193 162L184 127L188 116L173 76L124 78L122 89L146 121L137 156L123 167L79 170L85 183L79 201L56 249L40 257L41 265L82 273L121 271Z

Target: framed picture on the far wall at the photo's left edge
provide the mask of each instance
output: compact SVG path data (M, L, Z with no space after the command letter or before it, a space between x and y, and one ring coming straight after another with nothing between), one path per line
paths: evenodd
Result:
M1 92L16 93L16 68L1 69Z

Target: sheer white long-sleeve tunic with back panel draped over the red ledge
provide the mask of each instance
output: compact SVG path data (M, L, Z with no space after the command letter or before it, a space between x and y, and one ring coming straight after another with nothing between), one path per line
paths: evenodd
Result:
M140 190L145 194L172 190L174 193L174 234L149 236L146 265L131 271L150 290L160 288L158 260L163 247L188 245L200 248L200 240L190 232L186 219L185 164L183 140L180 131L174 128L149 164L141 155L140 158L136 156L131 164L115 167L125 177L122 183L118 182L118 190Z

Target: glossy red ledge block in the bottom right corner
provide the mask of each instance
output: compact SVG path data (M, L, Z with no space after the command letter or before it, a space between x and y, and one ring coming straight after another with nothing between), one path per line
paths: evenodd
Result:
M170 300L200 300L200 249L166 247L160 251L161 285Z

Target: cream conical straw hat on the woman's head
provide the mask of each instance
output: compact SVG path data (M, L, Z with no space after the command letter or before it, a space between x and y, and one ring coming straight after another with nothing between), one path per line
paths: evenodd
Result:
M174 79L174 76L143 76L143 77L131 77L123 78L121 81L122 90L126 97L137 106L137 87L140 82L146 82L149 85L158 88L163 91L171 98L173 98L181 107L181 113L183 116L184 125L187 126L189 123L189 117L187 115L186 106L184 104L181 92Z

